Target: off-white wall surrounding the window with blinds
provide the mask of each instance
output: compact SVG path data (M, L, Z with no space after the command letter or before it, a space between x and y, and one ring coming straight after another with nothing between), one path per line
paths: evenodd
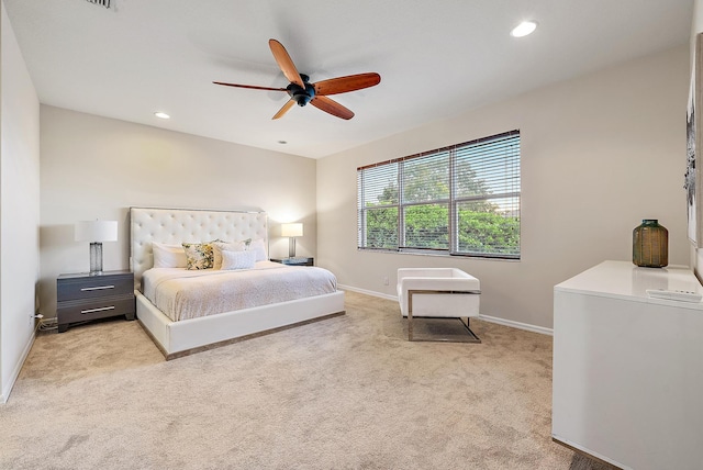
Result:
M670 262L688 265L688 70L681 46L319 160L319 259L342 284L387 295L399 267L456 266L481 280L483 315L540 328L551 328L556 283L632 259L643 219L669 228ZM356 249L357 167L513 128L522 138L521 261Z

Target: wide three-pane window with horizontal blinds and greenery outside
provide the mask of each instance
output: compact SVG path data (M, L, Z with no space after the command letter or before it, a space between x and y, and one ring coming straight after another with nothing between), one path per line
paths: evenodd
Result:
M520 258L520 131L357 168L358 247Z

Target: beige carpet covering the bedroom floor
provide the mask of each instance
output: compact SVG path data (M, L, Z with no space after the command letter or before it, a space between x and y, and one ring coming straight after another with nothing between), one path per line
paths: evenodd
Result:
M551 337L409 343L398 304L164 361L136 322L37 336L3 469L595 469L551 441Z

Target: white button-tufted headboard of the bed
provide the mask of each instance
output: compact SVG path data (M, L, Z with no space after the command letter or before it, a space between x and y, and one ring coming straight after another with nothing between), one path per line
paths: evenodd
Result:
M266 212L198 209L130 208L130 262L138 288L142 273L154 266L152 242L180 245L220 238L237 242L263 238L268 257Z

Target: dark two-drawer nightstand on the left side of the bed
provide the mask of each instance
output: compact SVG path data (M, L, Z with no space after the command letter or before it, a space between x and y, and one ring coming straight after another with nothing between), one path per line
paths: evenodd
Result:
M56 279L56 316L58 333L71 323L124 315L134 320L134 273L103 271L60 275Z

